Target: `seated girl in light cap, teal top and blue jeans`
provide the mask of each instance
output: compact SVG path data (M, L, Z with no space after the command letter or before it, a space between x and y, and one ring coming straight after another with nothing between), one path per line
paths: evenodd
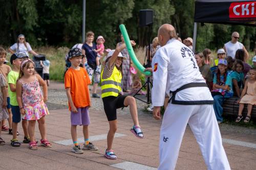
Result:
M230 98L233 95L232 79L230 74L228 74L227 60L225 59L219 59L218 69L214 75L213 89L211 94L214 98L214 111L218 124L221 124L223 122L223 101L225 98Z

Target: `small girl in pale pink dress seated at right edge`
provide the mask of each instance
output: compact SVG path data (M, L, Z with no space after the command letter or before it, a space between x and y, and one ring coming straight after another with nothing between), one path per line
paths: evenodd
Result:
M240 122L243 118L242 111L244 109L244 104L247 104L247 115L245 116L244 122L248 123L251 118L251 110L253 105L256 105L256 68L251 68L249 70L249 80L246 80L245 87L241 94L241 100L239 103L239 111L236 122Z

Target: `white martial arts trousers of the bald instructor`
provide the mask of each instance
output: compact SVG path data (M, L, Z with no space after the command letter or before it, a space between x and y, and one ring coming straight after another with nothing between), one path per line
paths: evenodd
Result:
M175 169L187 124L194 133L208 169L230 169L212 105L169 103L160 132L159 170Z

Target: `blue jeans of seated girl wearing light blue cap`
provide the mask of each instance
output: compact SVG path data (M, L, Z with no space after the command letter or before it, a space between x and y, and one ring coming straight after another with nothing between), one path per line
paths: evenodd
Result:
M219 122L223 122L223 117L222 117L222 113L223 113L223 108L222 108L222 104L224 101L224 96L223 95L215 95L213 96L214 98L214 112L217 118L217 121Z

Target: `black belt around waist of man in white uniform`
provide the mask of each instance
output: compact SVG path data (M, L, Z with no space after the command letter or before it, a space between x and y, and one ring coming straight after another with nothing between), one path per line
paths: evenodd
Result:
M191 87L208 87L206 83L188 83L180 88L178 88L175 91L170 91L170 94L172 94L172 97L169 99L168 103L172 101L172 104L177 104L177 105L212 105L214 104L214 101L177 101L175 100L175 95L177 92L184 90L186 88L191 88Z

